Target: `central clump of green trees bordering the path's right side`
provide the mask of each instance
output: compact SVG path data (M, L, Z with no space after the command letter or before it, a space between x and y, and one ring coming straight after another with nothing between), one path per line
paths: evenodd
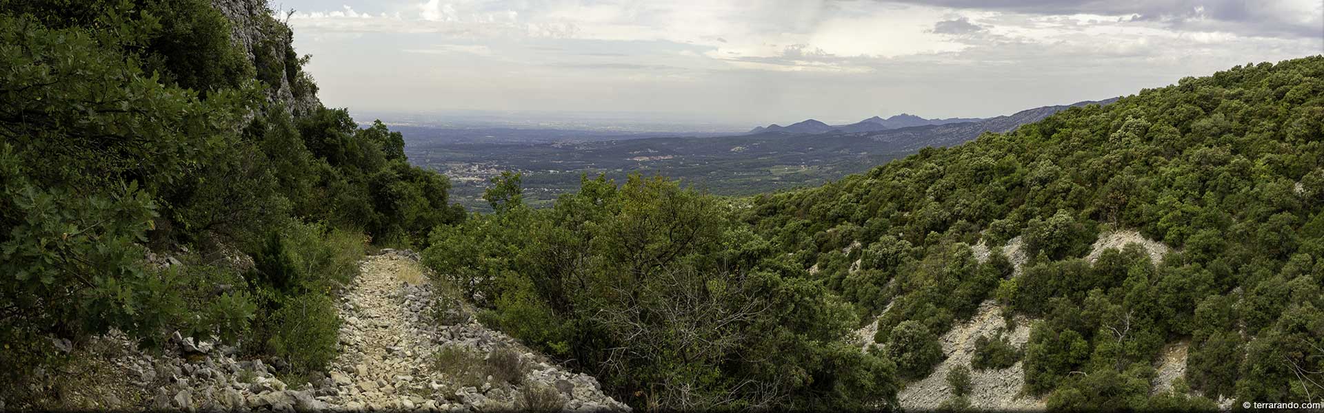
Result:
M573 360L636 406L861 408L894 364L843 339L849 304L769 255L714 196L662 179L585 179L556 205L495 179L495 213L440 226L424 262L498 326Z

